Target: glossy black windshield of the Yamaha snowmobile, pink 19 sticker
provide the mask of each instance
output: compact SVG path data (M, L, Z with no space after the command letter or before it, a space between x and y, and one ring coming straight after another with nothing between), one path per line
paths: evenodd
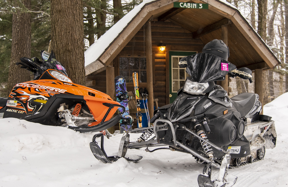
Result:
M236 69L235 65L223 58L207 53L186 56L181 61L187 61L186 72L191 76L191 81L198 83L223 81L229 71Z

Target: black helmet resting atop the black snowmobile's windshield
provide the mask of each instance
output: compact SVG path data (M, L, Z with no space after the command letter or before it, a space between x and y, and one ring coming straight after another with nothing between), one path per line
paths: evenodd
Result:
M227 61L229 57L229 48L222 40L215 39L203 47L202 53L217 55Z

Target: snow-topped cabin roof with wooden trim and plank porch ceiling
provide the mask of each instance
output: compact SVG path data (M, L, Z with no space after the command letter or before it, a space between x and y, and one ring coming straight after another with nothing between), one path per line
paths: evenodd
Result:
M207 3L209 9L174 8L174 2ZM200 16L199 16L200 15ZM173 22L203 44L219 39L228 26L229 62L240 67L269 69L280 64L239 10L220 0L146 0L132 9L85 51L86 75L105 69L148 20ZM153 36L152 36L153 37ZM217 38L218 37L218 38Z

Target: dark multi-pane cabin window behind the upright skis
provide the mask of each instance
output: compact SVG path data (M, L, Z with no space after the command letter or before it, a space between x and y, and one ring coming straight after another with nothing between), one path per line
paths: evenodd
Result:
M144 57L119 57L119 72L126 79L127 83L133 83L132 74L138 73L140 83L147 82L146 58Z

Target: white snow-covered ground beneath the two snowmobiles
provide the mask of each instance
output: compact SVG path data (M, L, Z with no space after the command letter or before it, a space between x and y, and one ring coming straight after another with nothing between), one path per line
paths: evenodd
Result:
M263 161L230 169L238 176L235 187L288 186L288 93L264 107L277 131L274 149L266 149ZM159 150L128 150L143 159L128 163L121 158L112 164L98 161L89 143L95 133L80 134L24 120L0 119L0 186L198 186L203 165L190 154ZM120 134L105 138L106 153L116 155ZM132 134L135 140L139 134ZM213 170L214 175L217 169ZM215 177L215 176L213 176Z

